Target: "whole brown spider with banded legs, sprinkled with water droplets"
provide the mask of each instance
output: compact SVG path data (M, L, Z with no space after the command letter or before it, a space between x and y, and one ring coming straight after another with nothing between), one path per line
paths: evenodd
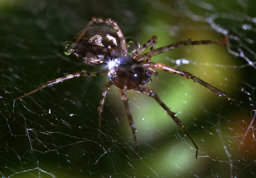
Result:
M94 23L108 24L113 27L90 27ZM154 49L157 42L157 37L153 35L148 41L146 41L142 46L139 45L138 41L132 37L125 38L121 32L119 26L115 21L108 18L103 20L101 18L92 18L87 24L84 30L80 31L72 40L72 42L67 41L62 45L62 51L65 55L75 55L79 60L90 64L90 65L102 65L107 64L108 69L101 72L88 72L81 71L59 79L46 82L43 86L37 88L36 90L24 94L23 96L16 98L20 99L28 96L46 86L52 86L64 80L68 80L75 77L86 77L86 76L102 76L108 75L110 81L104 86L102 92L102 97L100 100L100 105L98 107L98 124L99 124L99 134L101 127L101 113L105 101L107 91L113 84L117 86L121 92L121 99L125 105L126 115L128 117L129 126L133 134L135 145L137 148L137 154L140 158L139 147L135 135L134 122L129 109L128 100L126 98L126 90L134 90L135 92L144 93L148 96L154 98L159 105L168 113L168 115L176 122L177 125L185 132L189 137L191 142L196 148L196 158L198 155L198 146L193 141L192 137L187 132L186 128L181 124L181 121L177 117L177 114L172 112L158 97L158 95L148 87L145 87L147 83L151 82L151 77L158 77L158 72L154 69L160 69L169 73L177 74L185 77L186 79L192 79L194 82L198 82L211 91L215 92L219 96L225 97L228 100L234 102L234 99L226 96L224 92L218 90L217 88L211 86L207 82L195 77L189 72L170 67L162 63L151 62L151 57L157 54L167 52L169 50L179 48L180 46L188 45L209 45L218 44L225 45L226 41L216 42L211 40L200 40L191 41L187 39L186 41L180 41L167 46ZM150 46L150 50L146 53L142 53L146 48Z

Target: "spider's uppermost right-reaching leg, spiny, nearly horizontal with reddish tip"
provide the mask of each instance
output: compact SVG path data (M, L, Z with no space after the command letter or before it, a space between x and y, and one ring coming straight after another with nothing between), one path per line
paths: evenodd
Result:
M156 49L153 50L152 55L151 55L150 51L145 53L145 54L137 55L135 60L141 61L143 59L146 59L148 56L155 56L155 55L158 55L158 54L161 54L161 53L164 53L164 52L167 52L167 51L179 48L181 46L210 45L210 44L226 45L226 43L224 43L223 41L224 40L222 40L220 42L219 41L211 41L211 40L200 40L200 41L189 41L189 40L187 40L187 41L180 41L180 42L172 43L170 45L162 46L160 48L156 48Z

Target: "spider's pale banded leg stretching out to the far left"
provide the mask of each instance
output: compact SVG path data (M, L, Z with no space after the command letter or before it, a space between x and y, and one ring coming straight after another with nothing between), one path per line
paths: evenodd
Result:
M29 93L26 93L24 94L23 96L20 96L19 98L16 98L15 100L17 99L20 99L20 98L23 98L25 96L28 96L38 90L42 90L43 88L45 88L46 86L52 86L52 85L55 85L59 82L63 82L65 80L68 80L68 79L73 79L75 77L87 77L87 76L102 76L102 75L107 75L108 74L108 70L105 70L105 71L101 71L101 72L87 72L87 71L82 71L82 72L77 72L77 73L73 73L73 74L70 74L70 75L67 75L65 77L61 77L59 79L55 79L55 80L51 80L49 82L46 82L46 84L44 84L43 86L40 86L39 88L37 88L36 90L32 91L32 92L29 92Z

